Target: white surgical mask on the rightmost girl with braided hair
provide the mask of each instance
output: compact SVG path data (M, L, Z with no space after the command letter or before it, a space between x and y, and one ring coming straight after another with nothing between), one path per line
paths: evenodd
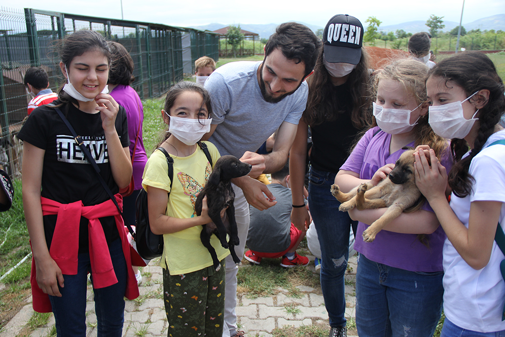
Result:
M465 101L469 100L477 92L479 91L473 93ZM428 108L428 123L430 123L433 131L440 137L463 139L470 132L475 121L478 120L478 118L474 118L477 112L479 112L478 109L472 116L472 119L465 118L463 115L463 102L452 102Z

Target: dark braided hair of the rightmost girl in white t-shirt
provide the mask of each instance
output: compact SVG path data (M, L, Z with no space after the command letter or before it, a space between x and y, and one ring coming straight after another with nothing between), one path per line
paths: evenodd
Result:
M456 196L464 198L472 190L473 177L468 173L470 162L482 150L505 111L505 97L503 96L505 87L496 73L493 62L480 52L464 52L440 61L428 75L445 80L448 88L451 87L449 81L455 83L463 88L467 97L482 89L489 90L489 99L479 110L479 120L476 121L479 123L479 130L470 155L461 159L468 152L469 145L465 139L453 138L450 143L455 164L449 172L448 183ZM481 100L483 100L482 95L476 94L469 102L477 103Z

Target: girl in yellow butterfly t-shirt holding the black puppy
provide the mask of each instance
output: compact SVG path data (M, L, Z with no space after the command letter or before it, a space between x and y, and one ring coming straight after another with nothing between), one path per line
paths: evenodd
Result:
M195 195L212 171L205 153L196 142L210 130L210 95L193 82L179 82L167 93L163 120L169 125L161 147L174 159L170 181L162 151L155 151L145 165L142 186L147 191L149 220L155 234L164 234L164 303L169 322L168 336L220 337L223 334L225 266L229 250L211 236L221 269L216 271L207 248L201 243L201 225L212 222L207 214L207 197L200 216L194 211ZM205 142L213 164L216 147ZM170 192L170 195L167 194Z

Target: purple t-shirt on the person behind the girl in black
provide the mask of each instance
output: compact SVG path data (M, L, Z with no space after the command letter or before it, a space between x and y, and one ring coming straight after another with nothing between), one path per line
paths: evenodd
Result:
M120 106L125 108L128 120L128 135L130 136L130 158L135 147L135 138L138 141L135 150L135 159L133 160L133 180L135 181L135 190L142 188L142 173L147 162L144 143L142 141L142 122L144 120L144 108L138 97L137 92L129 85L118 85L111 91L111 96ZM140 126L140 130L138 129Z

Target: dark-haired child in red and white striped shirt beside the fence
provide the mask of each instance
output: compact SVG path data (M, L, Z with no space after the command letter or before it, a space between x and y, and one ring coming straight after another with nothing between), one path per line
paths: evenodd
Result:
M33 97L28 103L28 115L44 104L49 104L58 98L56 92L49 88L49 76L40 67L31 67L25 73L25 87L28 94Z

